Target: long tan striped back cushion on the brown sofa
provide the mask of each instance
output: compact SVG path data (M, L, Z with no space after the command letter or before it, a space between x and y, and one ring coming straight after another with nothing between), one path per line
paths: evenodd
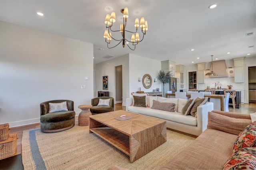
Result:
M208 112L208 129L216 129L239 135L239 133L249 124L250 119L237 119L210 111Z

